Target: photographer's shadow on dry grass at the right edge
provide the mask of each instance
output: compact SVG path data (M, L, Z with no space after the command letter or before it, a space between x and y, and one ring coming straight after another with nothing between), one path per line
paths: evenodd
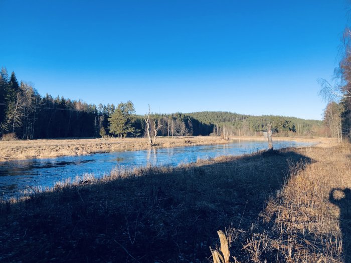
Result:
M329 201L340 209L340 230L345 262L351 262L351 189L334 188L330 191Z

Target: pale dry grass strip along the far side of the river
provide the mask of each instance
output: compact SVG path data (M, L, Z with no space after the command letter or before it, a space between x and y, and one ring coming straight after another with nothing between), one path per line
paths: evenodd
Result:
M266 140L263 137L233 137L237 140ZM274 137L273 140L296 140L329 145L326 138ZM216 136L158 137L156 148L194 146L228 143ZM273 145L274 146L274 145ZM86 155L115 151L145 150L145 138L103 138L103 139L45 139L0 141L0 161L23 160L32 158L53 158L59 156Z

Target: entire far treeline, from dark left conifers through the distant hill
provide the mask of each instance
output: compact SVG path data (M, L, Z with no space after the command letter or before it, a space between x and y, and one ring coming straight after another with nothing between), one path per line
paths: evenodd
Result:
M251 116L231 112L152 114L158 136L259 135L272 123L277 135L325 135L321 121L283 116ZM30 84L17 80L7 69L0 72L0 135L18 138L144 136L144 116L132 102L99 105L64 97L42 96Z

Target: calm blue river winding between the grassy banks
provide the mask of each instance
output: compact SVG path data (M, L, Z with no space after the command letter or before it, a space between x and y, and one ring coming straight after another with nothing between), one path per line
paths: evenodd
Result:
M310 146L313 143L273 142L275 149ZM242 141L229 144L162 148L142 151L112 152L50 159L0 162L0 197L18 195L30 186L52 187L55 182L83 174L95 177L108 174L115 166L145 166L194 162L221 155L240 155L266 149L267 142Z

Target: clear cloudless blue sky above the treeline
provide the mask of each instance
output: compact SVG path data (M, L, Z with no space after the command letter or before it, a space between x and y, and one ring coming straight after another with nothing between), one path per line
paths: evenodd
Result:
M40 94L147 112L321 119L344 0L0 0L0 66Z

